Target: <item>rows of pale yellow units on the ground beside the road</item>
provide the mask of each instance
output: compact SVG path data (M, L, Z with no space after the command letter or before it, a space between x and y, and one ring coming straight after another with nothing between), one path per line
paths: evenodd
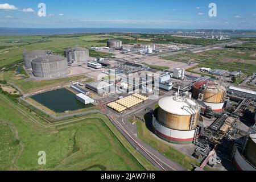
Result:
M108 107L117 111L118 113L121 113L122 111L130 109L135 105L141 104L146 100L148 100L147 97L144 97L140 94L134 94L133 96L125 97L125 98L122 98L121 100L112 102L108 104Z

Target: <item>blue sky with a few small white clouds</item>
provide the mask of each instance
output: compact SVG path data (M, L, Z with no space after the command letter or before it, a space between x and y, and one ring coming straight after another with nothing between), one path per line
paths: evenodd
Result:
M39 17L38 4L46 4ZM217 17L210 18L209 3ZM0 0L0 27L209 28L256 30L255 0Z

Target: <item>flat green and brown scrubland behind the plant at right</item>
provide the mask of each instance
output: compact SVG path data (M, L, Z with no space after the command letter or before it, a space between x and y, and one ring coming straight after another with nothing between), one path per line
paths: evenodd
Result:
M251 43L250 43L251 44ZM256 46L256 43L254 43ZM256 51L237 49L214 49L200 53L184 53L180 55L164 57L166 60L187 62L200 62L198 68L225 69L228 71L241 71L252 75L256 70ZM194 68L193 68L194 69ZM187 71L191 72L191 69ZM201 74L200 75L205 75ZM209 76L209 75L205 75Z

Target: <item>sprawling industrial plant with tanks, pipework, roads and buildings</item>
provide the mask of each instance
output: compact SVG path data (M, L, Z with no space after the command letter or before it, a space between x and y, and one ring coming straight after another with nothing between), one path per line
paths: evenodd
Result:
M107 47L90 48L99 54L110 53L104 58L90 59L89 50L81 47L65 49L65 57L47 51L24 53L31 78L86 76L66 86L79 107L61 117L70 112L82 114L79 111L91 106L100 108L134 136L142 132L137 130L142 122L147 137L189 156L200 164L195 169L208 165L221 170L256 170L256 92L208 75L237 73L197 68L204 74L200 76L188 71L190 61L171 65L170 60L160 58L163 51L168 56L187 49L184 44L123 45L116 39L105 43Z

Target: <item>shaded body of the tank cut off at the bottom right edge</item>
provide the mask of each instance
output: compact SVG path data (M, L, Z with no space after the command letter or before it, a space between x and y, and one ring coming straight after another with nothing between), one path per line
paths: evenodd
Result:
M245 158L256 167L256 134L249 135L247 147L245 151Z

